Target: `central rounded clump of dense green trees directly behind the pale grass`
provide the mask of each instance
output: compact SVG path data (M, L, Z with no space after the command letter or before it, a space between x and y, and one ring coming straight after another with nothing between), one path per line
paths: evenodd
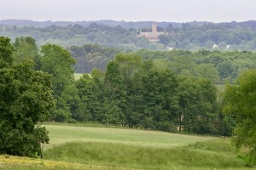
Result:
M75 84L79 121L211 134L224 123L211 81L159 69L138 55L118 54L105 73L95 69Z

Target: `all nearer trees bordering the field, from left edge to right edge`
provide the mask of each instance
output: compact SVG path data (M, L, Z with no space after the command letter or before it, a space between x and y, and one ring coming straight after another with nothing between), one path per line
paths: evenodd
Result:
M59 46L44 45L39 53L31 37L13 45L0 38L0 154L42 156L49 138L40 122L54 120L224 136L237 125L237 147L255 156L255 71L227 88L224 115L211 78L184 74L186 67L117 54L106 71L93 69L75 82L74 64Z

